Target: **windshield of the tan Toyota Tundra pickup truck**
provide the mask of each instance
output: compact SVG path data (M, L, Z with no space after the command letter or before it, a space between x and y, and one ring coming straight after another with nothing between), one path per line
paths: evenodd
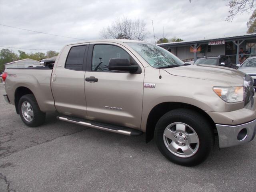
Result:
M154 44L137 42L128 42L126 44L154 68L169 68L184 65L184 62L178 57Z

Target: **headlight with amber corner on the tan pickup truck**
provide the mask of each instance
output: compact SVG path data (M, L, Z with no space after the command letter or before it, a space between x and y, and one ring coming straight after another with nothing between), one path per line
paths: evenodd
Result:
M214 87L214 92L228 103L244 100L244 87Z

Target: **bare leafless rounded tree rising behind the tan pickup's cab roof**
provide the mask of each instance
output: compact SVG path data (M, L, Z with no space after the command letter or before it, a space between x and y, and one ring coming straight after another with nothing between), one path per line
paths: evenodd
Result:
M117 18L111 26L104 28L100 32L103 39L132 39L145 40L149 32L146 30L144 20L130 20L126 17Z

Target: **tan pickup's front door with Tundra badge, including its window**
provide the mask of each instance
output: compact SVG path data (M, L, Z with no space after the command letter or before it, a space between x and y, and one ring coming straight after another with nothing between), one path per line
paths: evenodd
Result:
M131 52L115 43L90 44L85 77L87 115L92 120L140 128L144 68ZM137 73L108 70L110 58L127 58ZM90 78L90 79L89 79ZM90 81L91 80L91 81Z

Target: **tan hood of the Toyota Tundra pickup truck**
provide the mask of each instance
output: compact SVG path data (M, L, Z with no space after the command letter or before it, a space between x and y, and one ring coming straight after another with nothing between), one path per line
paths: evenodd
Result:
M245 76L243 72L232 68L202 64L167 68L164 70L176 76L222 82L229 86L242 86Z

